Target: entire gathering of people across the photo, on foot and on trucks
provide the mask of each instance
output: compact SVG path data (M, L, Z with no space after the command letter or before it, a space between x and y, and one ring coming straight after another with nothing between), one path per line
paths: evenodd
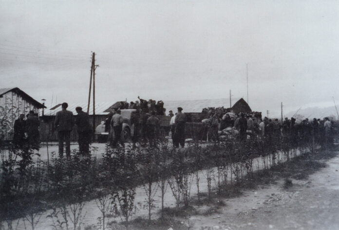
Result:
M138 97L139 98L139 97ZM133 145L139 143L151 147L157 146L157 139L160 136L160 120L156 115L162 115L165 112L163 102L155 103L153 100L143 100L140 102L131 102L128 108L135 109L131 113L131 125L133 127L132 142ZM126 104L126 105L127 105ZM112 147L124 146L124 139L121 137L124 118L121 116L121 108L112 108L105 121L101 124L106 132L109 132L109 142ZM78 144L80 154L90 153L89 144L93 136L93 128L89 121L88 113L82 111L81 107L76 107L76 118L71 111L67 110L68 104L62 103L62 110L57 112L55 118L55 130L59 142L59 155L63 156L64 148L66 156L70 156L71 131L74 125L77 127ZM187 116L183 113L183 108L178 107L177 113L169 111L170 136L174 147L185 146L185 124ZM216 109L207 111L208 118L202 122L207 127L208 141L219 142L223 138L228 138L225 133L231 134L233 138L245 142L247 139L259 138L268 142L289 142L297 144L300 141L312 141L319 144L328 144L332 142L333 122L329 118L322 120L314 118L309 121L307 118L297 121L295 118L285 118L284 121L278 119L262 119L261 113L239 113L234 114L229 110ZM231 131L231 132L230 132ZM30 111L25 119L24 114L20 114L19 119L14 123L13 142L19 148L28 147L39 149L39 120L34 111ZM64 144L65 142L65 144Z

